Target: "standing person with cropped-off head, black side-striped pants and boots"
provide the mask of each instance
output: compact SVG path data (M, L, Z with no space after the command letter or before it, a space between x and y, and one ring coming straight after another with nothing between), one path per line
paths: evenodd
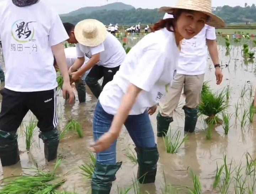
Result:
M63 97L68 94L69 102L74 99L63 47L68 34L57 12L52 11L44 1L4 0L0 2L0 7L0 18L5 18L0 22L0 37L6 66L5 87L0 91L1 164L3 167L11 166L20 161L17 129L29 110L38 119L45 158L47 161L54 160L59 132L53 56L60 64L64 80ZM45 13L47 15L42 17ZM11 29L8 27L10 23L13 24ZM26 26L22 28L24 24Z

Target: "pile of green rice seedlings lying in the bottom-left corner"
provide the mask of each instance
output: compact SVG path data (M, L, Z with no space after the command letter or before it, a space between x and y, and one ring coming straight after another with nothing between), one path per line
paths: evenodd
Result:
M66 180L53 182L54 179L60 178L55 174L61 160L57 160L53 172L35 170L34 175L24 174L16 177L3 179L0 189L1 194L52 194L55 189L62 185Z

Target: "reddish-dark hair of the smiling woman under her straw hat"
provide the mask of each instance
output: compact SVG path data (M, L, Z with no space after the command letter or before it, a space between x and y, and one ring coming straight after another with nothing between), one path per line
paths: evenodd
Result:
M174 16L174 18L167 18L165 20L160 20L159 22L156 22L153 26L150 27L151 32L158 31L162 28L166 28L170 32L175 31L175 25L178 18L181 16L183 12L191 13L192 10L186 10L186 9L176 9L172 12L171 15ZM171 29L172 27L172 29Z

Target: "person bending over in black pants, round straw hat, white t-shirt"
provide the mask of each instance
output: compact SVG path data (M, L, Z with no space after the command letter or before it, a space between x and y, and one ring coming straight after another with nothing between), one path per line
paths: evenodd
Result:
M119 66L126 57L122 44L98 20L87 19L76 26L64 23L69 34L69 43L76 44L78 59L71 66L71 81L78 80L87 70L91 69L85 78L87 86L96 98L100 96L102 88L119 70ZM89 61L80 68L87 56ZM80 68L80 69L79 69ZM98 83L103 77L102 85Z

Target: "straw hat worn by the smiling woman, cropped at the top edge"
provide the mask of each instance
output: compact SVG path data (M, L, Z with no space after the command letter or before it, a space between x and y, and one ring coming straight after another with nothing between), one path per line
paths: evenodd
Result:
M165 11L171 14L175 9L200 11L210 17L206 22L207 25L216 28L225 27L225 22L220 17L212 13L211 0L178 0L175 6L161 7L159 11Z

